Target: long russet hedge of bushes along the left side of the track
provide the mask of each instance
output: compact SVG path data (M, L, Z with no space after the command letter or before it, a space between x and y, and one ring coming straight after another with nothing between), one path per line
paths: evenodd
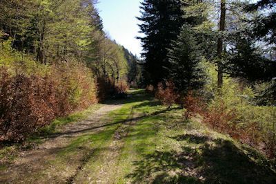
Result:
M97 102L95 82L85 66L72 62L51 66L45 76L0 69L0 140L19 141Z

